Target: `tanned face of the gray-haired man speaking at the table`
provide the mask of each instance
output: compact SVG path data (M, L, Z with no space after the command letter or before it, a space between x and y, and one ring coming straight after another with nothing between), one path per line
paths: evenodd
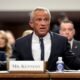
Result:
M47 11L36 11L31 22L31 27L39 37L45 36L50 28L50 16Z

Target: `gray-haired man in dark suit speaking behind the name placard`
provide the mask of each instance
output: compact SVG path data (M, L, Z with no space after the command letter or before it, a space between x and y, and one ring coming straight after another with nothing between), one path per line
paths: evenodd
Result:
M13 56L17 60L44 60L47 61L47 69L56 70L58 57L63 57L72 69L80 69L80 59L71 52L65 37L51 33L51 15L46 8L36 8L30 16L30 26L33 33L18 39L15 43Z

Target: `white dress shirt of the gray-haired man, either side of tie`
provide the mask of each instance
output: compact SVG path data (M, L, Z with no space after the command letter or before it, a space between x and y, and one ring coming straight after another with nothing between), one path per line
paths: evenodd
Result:
M51 36L48 33L45 37L43 37L44 42L44 59L48 61L50 53L51 53ZM39 61L41 60L41 48L39 37L33 33L32 35L32 55L34 60Z

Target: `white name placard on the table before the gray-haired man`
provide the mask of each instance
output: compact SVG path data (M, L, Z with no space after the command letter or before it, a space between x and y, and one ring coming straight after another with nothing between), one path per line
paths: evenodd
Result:
M43 61L9 61L9 71L44 71Z

